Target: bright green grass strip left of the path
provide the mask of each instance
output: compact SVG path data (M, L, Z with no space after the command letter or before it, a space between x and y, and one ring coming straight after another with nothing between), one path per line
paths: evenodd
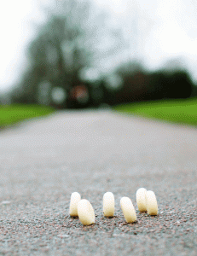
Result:
M14 125L24 119L32 119L54 112L54 108L38 105L7 105L0 106L0 128Z

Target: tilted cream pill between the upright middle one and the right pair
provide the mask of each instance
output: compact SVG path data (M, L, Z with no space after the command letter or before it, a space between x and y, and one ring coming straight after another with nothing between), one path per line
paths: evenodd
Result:
M125 216L125 220L128 223L136 221L136 211L133 207L132 201L129 197L122 197L120 200L120 206Z

